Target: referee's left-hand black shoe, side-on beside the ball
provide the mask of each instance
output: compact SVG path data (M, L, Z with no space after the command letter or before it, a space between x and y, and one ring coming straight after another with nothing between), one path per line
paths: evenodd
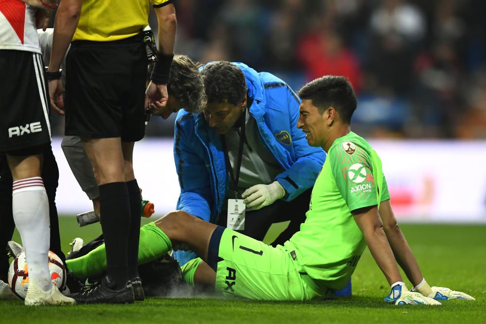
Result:
M70 294L69 297L74 298L78 304L132 304L134 302L131 281L127 281L120 290L115 290L115 286L113 279L106 275L96 287Z

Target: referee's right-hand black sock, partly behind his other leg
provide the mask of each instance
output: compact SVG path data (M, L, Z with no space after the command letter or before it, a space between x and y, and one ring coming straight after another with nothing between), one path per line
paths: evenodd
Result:
M126 183L128 196L130 197L130 232L128 234L128 275L131 279L139 276L139 239L140 239L140 215L141 197L137 179Z

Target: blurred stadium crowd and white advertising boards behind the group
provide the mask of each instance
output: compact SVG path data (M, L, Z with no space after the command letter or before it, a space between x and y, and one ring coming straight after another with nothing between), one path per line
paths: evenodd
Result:
M382 156L401 220L486 220L486 24L483 0L176 0L176 52L241 61L295 90L345 75L359 96L352 128ZM150 24L156 31L152 12ZM156 216L179 193L175 115L151 119L135 171ZM60 214L90 209L59 150Z

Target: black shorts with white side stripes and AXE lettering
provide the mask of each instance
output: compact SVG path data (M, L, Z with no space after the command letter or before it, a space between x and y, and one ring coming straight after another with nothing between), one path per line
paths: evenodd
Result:
M49 102L40 54L0 50L0 152L51 142Z

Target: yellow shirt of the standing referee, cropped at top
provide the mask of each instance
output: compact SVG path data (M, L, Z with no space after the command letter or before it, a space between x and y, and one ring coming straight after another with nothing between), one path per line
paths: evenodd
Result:
M173 0L83 0L72 40L108 42L139 34L148 25L149 1L162 7Z

